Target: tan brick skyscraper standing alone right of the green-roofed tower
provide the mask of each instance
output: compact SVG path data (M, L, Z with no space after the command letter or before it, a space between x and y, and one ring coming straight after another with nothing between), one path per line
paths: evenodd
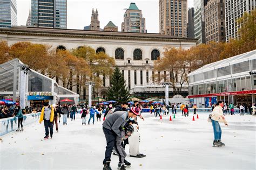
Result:
M187 37L187 0L159 0L159 32Z

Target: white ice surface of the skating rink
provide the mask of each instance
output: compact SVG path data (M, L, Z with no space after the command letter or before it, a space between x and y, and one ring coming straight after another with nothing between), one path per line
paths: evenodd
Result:
M208 114L192 115L169 121L149 113L139 120L140 153L145 158L129 157L127 169L256 169L256 123L254 116L230 116L223 130L224 147L212 147L213 130ZM62 120L61 120L62 122ZM82 125L80 115L68 125L59 125L53 138L44 140L44 125L34 123L23 132L13 132L0 142L0 169L102 169L105 136L102 122ZM111 167L117 169L118 157L112 155Z

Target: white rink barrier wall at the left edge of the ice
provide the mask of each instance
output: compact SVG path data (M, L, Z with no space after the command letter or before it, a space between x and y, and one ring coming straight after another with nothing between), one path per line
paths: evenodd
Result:
M26 125L29 125L31 123L35 123L39 121L39 117L41 115L41 112L37 112L35 114L26 114L23 117L23 128ZM0 136L3 136L4 134L8 134L12 131L16 131L18 128L18 118L17 117L8 117L0 119ZM25 129L25 128L24 128Z

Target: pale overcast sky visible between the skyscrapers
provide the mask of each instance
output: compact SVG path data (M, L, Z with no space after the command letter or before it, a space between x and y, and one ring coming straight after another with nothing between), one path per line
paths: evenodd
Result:
M193 7L194 0L187 0L188 7ZM82 30L90 25L92 8L98 9L100 28L111 20L118 31L124 20L125 8L129 8L130 2L135 2L143 17L146 18L146 29L150 33L159 32L158 0L68 0L68 29ZM18 0L18 25L26 25L29 16L30 0Z

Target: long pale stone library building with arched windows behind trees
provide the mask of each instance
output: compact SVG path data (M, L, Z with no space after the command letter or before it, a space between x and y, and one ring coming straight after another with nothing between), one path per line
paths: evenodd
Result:
M88 45L95 51L104 51L116 60L116 66L122 70L129 89L133 89L135 85L143 86L153 82L151 77L154 72L154 60L163 56L165 47L189 49L195 46L197 41L192 38L173 38L156 33L39 29L21 26L7 30L0 29L0 40L6 40L8 45L24 39L32 43L48 44L58 49ZM103 86L98 90L98 96L104 97L110 81L109 77L100 77ZM76 87L73 87L73 91L77 93ZM83 97L82 92L79 94Z

